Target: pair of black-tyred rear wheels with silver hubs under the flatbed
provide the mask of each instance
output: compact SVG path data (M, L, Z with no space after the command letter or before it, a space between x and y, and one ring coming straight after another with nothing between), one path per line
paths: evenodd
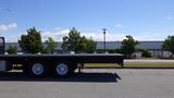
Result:
M24 71L27 72L27 74L35 77L45 76L50 72L53 72L53 74L58 77L65 77L70 75L70 73L74 73L75 69L76 64L58 63L53 66L49 66L47 65L47 63L34 62L25 66Z

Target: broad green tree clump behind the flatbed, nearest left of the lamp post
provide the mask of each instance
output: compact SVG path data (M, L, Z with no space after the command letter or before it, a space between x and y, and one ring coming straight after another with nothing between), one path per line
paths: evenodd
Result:
M92 52L96 49L96 42L80 36L80 33L73 27L69 36L63 37L62 49L75 52Z

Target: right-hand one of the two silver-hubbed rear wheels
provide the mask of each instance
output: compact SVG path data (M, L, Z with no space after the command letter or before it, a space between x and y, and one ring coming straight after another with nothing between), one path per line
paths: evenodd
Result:
M54 68L55 75L59 77L65 77L70 73L70 65L66 63L59 63Z

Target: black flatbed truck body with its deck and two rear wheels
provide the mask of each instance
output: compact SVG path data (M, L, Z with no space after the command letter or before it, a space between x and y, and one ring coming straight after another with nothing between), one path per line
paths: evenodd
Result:
M76 69L80 72L84 63L117 63L123 66L124 58L120 53L75 53L75 54L3 54L4 38L0 37L0 71L23 70L30 76L54 74L67 76Z

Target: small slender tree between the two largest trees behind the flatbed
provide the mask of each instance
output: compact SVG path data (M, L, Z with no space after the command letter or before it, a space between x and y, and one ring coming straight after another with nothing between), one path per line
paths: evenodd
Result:
M46 40L46 50L48 53L53 53L55 51L57 48L57 42L49 37L48 40Z

